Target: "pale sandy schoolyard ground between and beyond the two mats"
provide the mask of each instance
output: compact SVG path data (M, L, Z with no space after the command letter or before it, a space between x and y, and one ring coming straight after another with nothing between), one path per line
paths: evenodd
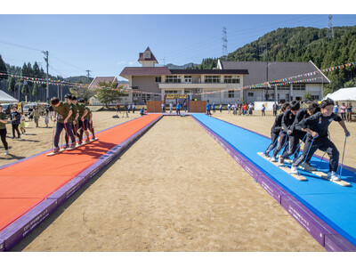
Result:
M97 131L123 122L112 115L94 113ZM262 134L273 120L216 117ZM39 142L12 151L46 149L51 131L28 128ZM325 251L190 117L158 121L13 250Z

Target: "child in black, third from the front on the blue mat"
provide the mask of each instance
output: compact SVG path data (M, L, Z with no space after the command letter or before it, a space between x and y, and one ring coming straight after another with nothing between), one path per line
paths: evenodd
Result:
M289 134L292 134L291 126L295 121L295 114L300 109L300 103L298 101L290 102L290 109L284 112L282 117L282 134L279 137L279 145L277 149L273 151L273 157L271 158L272 162L277 162L277 155L279 151L283 148L283 146L287 143L287 138ZM280 164L284 163L284 158L280 158Z

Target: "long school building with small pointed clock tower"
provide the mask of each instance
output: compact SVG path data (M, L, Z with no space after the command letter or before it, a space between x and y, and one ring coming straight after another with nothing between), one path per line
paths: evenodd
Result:
M303 100L306 92L312 99L321 100L323 85L330 83L312 61L309 62L269 62L263 61L218 61L214 69L168 69L156 67L158 61L148 47L139 54L142 67L125 67L120 77L126 78L129 87L147 93L133 93L132 101L143 104L148 100L163 100L163 94L190 94L192 98L216 104L235 101L265 101L266 93L270 101ZM292 85L271 85L266 88L244 89L223 93L210 93L225 89L256 85L268 80L297 76L316 72L316 81ZM302 79L302 78L300 78ZM206 93L206 94L199 94Z

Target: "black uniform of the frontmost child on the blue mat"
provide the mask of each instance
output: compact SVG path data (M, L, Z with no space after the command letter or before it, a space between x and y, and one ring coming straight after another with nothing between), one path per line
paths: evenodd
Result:
M327 152L328 157L330 158L329 171L337 171L339 151L336 149L336 145L328 139L328 125L330 125L333 120L340 122L343 119L335 113L332 113L329 117L324 117L321 112L317 112L311 117L304 118L299 124L295 125L295 128L298 130L309 128L312 131L317 132L319 135L314 138L314 140L312 135L307 135L303 154L296 159L293 166L299 166L304 160L310 160L316 150L321 150Z

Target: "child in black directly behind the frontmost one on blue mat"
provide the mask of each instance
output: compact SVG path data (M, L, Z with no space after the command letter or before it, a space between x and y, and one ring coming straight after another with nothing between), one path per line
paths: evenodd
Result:
M295 125L302 121L304 118L310 117L319 111L319 105L317 103L312 103L309 105L308 109L300 109L298 112L296 112L295 120L289 128L290 130L288 131L288 149L284 151L282 156L280 157L281 164L283 164L284 159L289 158L292 155L296 154L297 156L299 154L300 147L298 148L298 150L296 149L299 145L299 140L303 141L306 133L295 129ZM296 157L294 158L294 160L296 160ZM315 168L310 165L309 161L305 161L303 167L308 172L315 171Z

